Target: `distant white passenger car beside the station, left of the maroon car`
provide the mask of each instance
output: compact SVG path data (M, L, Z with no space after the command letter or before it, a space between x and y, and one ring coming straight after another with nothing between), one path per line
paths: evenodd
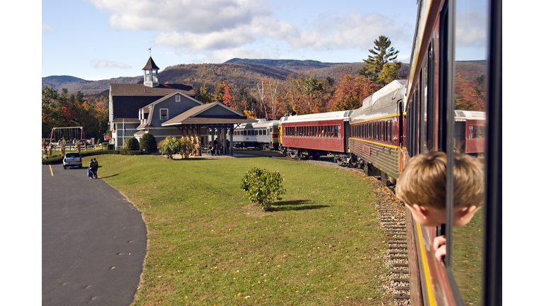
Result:
M234 147L259 147L277 150L280 143L278 120L259 119L256 123L242 123L234 128Z

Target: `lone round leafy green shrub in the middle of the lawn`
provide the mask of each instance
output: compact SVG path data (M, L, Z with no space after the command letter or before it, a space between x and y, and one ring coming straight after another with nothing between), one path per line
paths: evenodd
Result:
M281 185L283 178L278 171L268 172L254 168L246 173L240 188L253 203L259 203L263 210L270 210L275 200L281 200L285 188Z

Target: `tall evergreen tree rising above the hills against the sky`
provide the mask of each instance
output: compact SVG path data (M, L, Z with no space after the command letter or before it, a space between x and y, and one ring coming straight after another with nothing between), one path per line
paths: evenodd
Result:
M378 80L378 74L382 71L383 65L387 62L396 62L398 50L395 50L394 47L391 47L391 40L387 36L380 35L377 40L374 40L374 49L369 49L370 55L365 60L365 67L359 71L359 74L362 74L366 77L372 75L373 81Z

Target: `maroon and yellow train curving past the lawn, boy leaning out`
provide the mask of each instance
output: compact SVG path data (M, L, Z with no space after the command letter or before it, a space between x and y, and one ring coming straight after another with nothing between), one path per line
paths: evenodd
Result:
M455 1L416 5L408 78L387 84L356 110L284 115L277 120L278 149L293 159L331 154L385 185L395 185L404 165L422 152L446 152L448 164L457 152L480 158L486 187L477 304L502 305L502 1L488 2L485 111L455 110ZM453 171L446 183L446 220L452 220ZM409 210L406 221L411 305L465 305L453 267L459 242L453 222L425 227ZM448 252L439 262L431 246L441 234Z

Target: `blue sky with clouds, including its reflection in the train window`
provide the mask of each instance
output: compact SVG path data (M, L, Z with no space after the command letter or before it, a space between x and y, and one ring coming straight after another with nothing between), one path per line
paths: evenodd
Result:
M458 60L485 58L484 1L458 1ZM234 57L362 62L380 35L409 62L415 0L43 0L42 77L86 80ZM149 52L151 48L151 52ZM159 72L161 71L159 70Z

